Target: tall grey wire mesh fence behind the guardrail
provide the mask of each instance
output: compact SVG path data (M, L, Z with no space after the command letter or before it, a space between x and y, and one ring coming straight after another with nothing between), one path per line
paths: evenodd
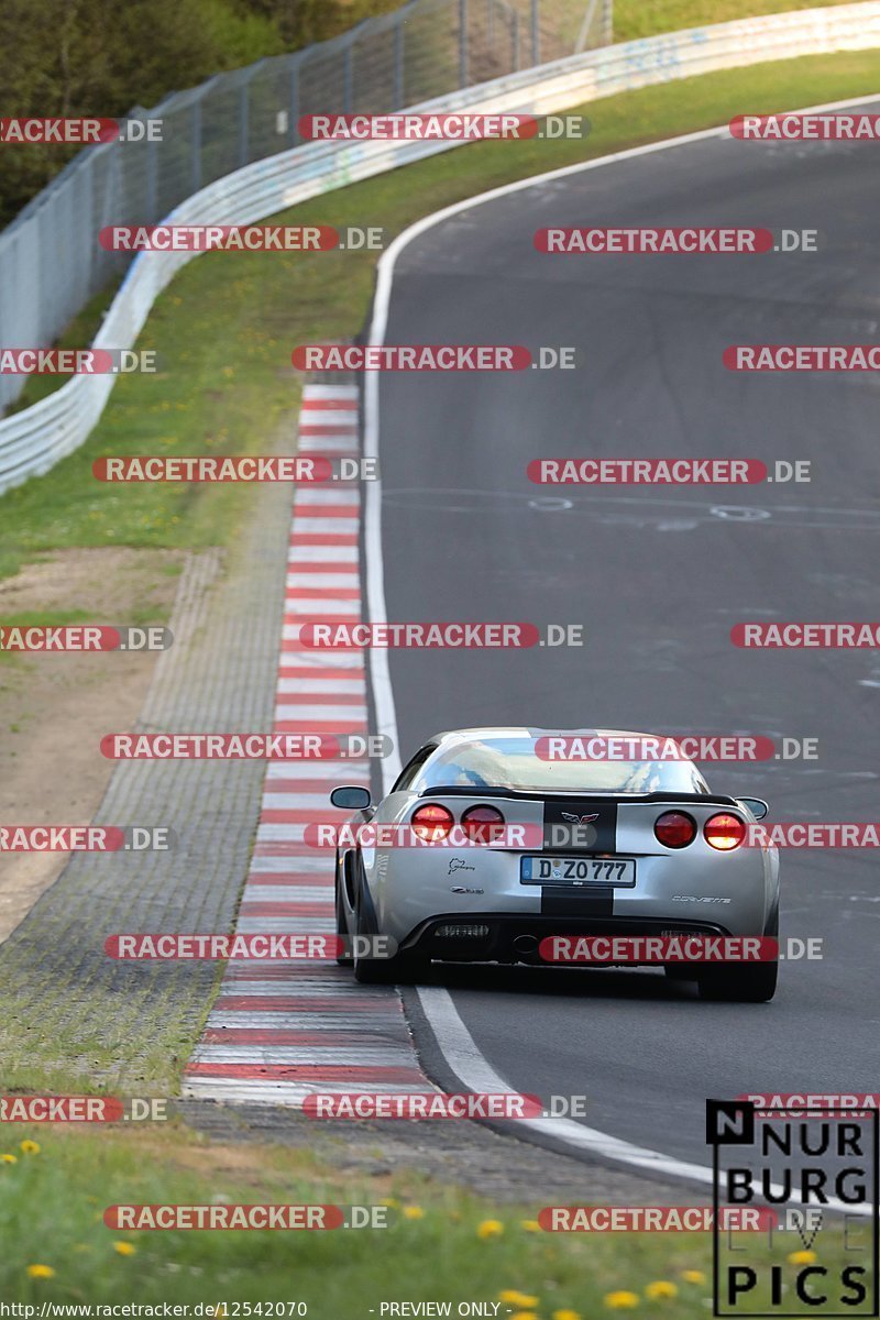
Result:
M224 174L297 147L302 115L400 110L607 42L611 3L410 0L332 41L136 107L129 117L161 119L161 141L79 152L0 234L0 345L49 346L124 272L129 259L100 248L102 227L156 223ZM0 414L25 379L0 375Z

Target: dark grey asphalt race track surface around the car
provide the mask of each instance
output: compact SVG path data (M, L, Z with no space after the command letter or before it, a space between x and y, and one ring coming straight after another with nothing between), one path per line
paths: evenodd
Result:
M880 384L735 374L734 343L872 343L871 144L712 137L471 206L400 253L385 343L577 346L575 371L380 380L392 620L583 623L581 649L389 652L404 759L470 725L818 738L818 760L705 764L770 821L876 817L871 651L734 647L739 620L880 618ZM546 256L542 226L814 228L819 253ZM811 484L540 487L538 457L810 459ZM782 853L782 936L822 936L770 1005L701 1003L658 972L441 978L512 1086L586 1093L587 1122L706 1163L705 1100L876 1082L877 859Z

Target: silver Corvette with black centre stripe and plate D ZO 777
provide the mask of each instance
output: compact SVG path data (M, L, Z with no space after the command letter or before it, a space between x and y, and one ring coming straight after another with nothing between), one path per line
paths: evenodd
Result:
M711 792L683 755L617 759L657 742L462 729L420 747L379 803L334 789L332 804L355 813L334 836L338 933L352 950L339 961L361 982L405 982L434 960L545 964L551 937L765 936L761 961L664 965L702 998L770 999L780 894L777 850L756 828L767 803ZM596 744L607 754L574 755ZM394 952L375 956L381 941L354 936L391 937Z

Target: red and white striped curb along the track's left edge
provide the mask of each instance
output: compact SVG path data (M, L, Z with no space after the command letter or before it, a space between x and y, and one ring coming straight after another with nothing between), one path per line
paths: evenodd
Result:
M355 385L306 385L299 453L358 457ZM276 689L276 733L367 734L363 651L303 648L305 622L361 618L360 486L299 486L294 494ZM236 924L239 935L332 933L332 853L305 843L306 825L339 822L339 783L369 784L365 760L274 762ZM335 962L227 964L183 1078L183 1094L273 1105L315 1092L425 1092L396 990L359 986Z

